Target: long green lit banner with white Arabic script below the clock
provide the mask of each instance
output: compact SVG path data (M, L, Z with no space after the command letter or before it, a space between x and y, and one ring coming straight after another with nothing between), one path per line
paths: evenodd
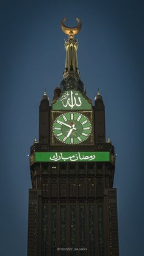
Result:
M30 164L35 162L112 162L110 152L35 152L30 156Z

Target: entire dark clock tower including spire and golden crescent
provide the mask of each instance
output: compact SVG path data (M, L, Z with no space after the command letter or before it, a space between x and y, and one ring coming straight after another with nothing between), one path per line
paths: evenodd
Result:
M106 141L105 109L87 97L77 64L81 29L67 27L63 80L51 106L44 92L39 140L31 147L27 256L118 256L115 152Z

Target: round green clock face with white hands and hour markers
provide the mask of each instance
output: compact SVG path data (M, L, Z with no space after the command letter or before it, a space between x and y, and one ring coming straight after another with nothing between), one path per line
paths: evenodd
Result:
M54 136L64 144L76 145L84 142L92 133L90 120L78 112L59 115L52 126Z

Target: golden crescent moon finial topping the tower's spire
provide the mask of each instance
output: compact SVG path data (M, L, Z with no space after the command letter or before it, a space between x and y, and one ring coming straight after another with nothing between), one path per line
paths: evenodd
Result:
M70 38L73 38L73 35L76 35L81 30L81 27L82 27L81 20L79 18L76 18L76 20L78 22L76 27L67 27L67 26L65 26L65 20L67 20L67 18L63 18L63 20L61 21L62 31L65 34L69 35Z

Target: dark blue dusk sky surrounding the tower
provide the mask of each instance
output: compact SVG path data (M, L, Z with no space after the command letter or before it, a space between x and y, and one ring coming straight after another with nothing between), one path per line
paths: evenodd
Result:
M120 256L143 255L143 1L1 1L0 255L27 255L29 148L38 138L38 107L51 102L65 67L60 21L82 20L81 79L106 108L115 146ZM93 101L94 102L94 101ZM106 256L106 255L105 255Z

